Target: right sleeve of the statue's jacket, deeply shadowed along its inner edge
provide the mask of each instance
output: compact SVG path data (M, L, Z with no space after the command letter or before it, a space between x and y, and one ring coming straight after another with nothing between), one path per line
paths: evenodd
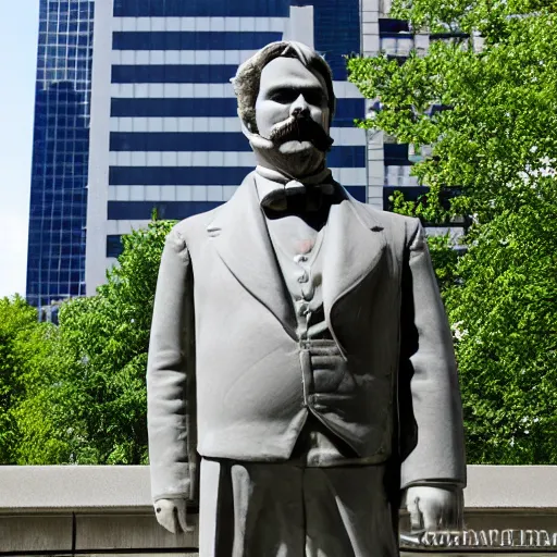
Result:
M447 482L463 486L462 406L453 337L424 231L418 219L407 223L401 283L399 419L401 431L412 431L413 440L409 450L401 451L400 485L405 488L410 484Z

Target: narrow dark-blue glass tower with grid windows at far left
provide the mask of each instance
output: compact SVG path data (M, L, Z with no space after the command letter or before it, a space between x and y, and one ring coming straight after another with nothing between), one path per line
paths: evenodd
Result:
M41 0L27 255L36 307L85 294L92 0Z

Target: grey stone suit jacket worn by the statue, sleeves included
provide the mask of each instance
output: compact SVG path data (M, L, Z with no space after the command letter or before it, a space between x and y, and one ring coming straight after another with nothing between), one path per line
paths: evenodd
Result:
M153 498L194 497L197 453L287 460L308 412L366 462L388 462L403 487L465 484L451 335L419 221L342 190L326 225L322 294L352 389L312 383L305 393L307 354L256 180L166 239L147 371Z

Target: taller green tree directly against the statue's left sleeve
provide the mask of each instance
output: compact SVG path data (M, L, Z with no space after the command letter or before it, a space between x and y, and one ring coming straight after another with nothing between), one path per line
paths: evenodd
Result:
M86 445L79 463L137 465L147 461L145 374L157 273L173 223L153 221L123 237L119 265L97 295L65 304L60 332L79 362L81 408Z

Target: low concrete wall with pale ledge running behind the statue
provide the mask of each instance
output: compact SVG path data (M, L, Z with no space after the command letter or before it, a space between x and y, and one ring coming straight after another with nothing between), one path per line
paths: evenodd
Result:
M159 527L149 491L148 467L2 467L0 556L190 555L197 528L175 536ZM557 467L468 467L465 502L468 529L557 532Z

